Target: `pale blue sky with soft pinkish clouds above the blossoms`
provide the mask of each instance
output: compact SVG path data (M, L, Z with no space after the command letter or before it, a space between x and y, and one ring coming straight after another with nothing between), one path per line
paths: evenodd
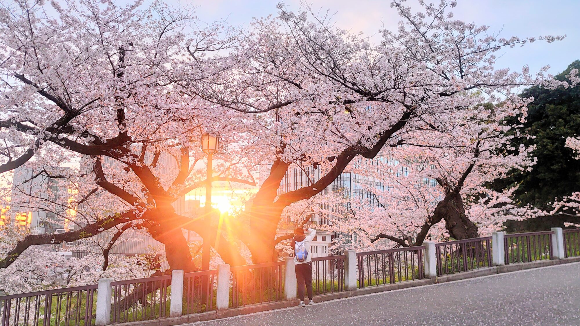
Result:
M438 3L438 0L426 2ZM204 21L213 21L227 17L234 25L248 26L252 17L276 15L279 0L194 0L200 6L197 15ZM330 9L336 13L338 26L351 32L362 31L378 35L378 30L385 22L390 30L396 28L399 20L397 13L390 8L390 0L310 0L314 8ZM168 3L179 3L177 0ZM286 0L289 8L298 8L299 0ZM418 6L416 0L409 0L408 5ZM498 68L509 67L520 70L528 64L531 71L549 64L550 73L559 73L572 61L580 59L580 27L578 14L580 0L458 0L454 8L455 19L473 21L490 26L492 30L501 30L503 37L513 35L531 37L540 35L563 35L564 41L535 42L523 48L507 49L499 52L503 56L498 60ZM505 53L505 54L504 54Z

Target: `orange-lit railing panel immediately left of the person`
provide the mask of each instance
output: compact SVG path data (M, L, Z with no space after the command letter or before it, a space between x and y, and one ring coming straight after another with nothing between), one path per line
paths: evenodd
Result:
M282 300L285 262L231 267L231 307Z

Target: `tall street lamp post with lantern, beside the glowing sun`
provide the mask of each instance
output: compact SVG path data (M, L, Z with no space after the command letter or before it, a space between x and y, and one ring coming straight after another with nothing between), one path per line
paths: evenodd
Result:
M209 270L209 229L212 213L212 159L218 153L219 139L209 133L201 135L201 150L208 154L208 171L205 184L205 238L201 252L201 270Z

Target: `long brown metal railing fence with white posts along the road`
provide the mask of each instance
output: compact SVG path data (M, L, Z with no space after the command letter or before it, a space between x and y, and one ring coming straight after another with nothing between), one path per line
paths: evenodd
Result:
M492 237L426 243L429 245L345 251L343 255L313 258L314 294L414 281L504 263L580 256L580 229L554 228L507 235L496 232ZM179 287L175 288L177 284ZM182 316L295 296L294 263L287 258L284 262L231 269L220 265L218 270L185 274L174 270L166 276L99 280L99 285L0 296L0 326L106 325L111 321Z

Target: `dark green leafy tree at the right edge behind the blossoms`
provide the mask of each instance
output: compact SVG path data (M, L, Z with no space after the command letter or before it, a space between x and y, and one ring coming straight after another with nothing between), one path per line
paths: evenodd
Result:
M580 60L574 61L556 78L563 80L572 68L580 68ZM519 137L514 139L514 145L535 144L533 155L538 162L531 172L514 172L509 178L496 181L495 186L507 188L518 184L514 199L521 206L531 204L549 209L550 202L580 190L580 161L575 159L570 148L565 147L566 137L580 135L580 87L532 87L521 96L534 97L521 131L523 135L535 136L535 139ZM518 124L516 120L509 122Z

